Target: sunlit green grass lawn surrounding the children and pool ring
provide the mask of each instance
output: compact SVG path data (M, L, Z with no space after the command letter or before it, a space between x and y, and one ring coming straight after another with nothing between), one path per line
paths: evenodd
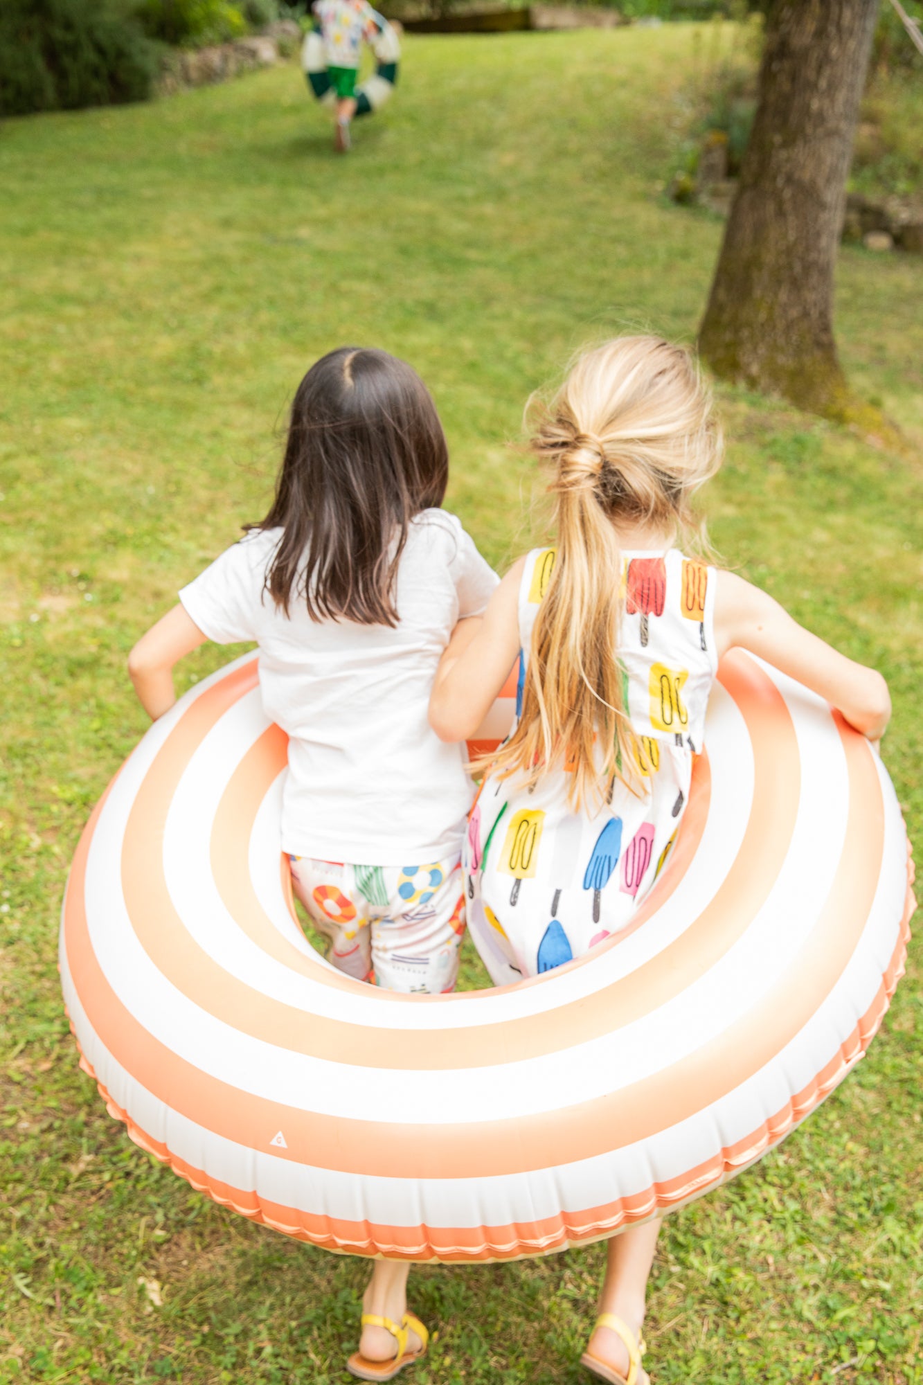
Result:
M345 1379L366 1267L193 1192L78 1071L55 971L68 861L144 730L126 654L262 514L317 355L380 345L420 370L449 504L503 564L538 524L509 446L529 391L586 338L693 337L721 224L660 191L692 47L686 25L407 40L392 104L340 162L294 66L0 126L1 1382ZM843 252L844 363L917 454L922 288L919 259ZM886 673L886 758L919 834L920 464L754 395L721 404L712 536ZM858 1072L668 1220L656 1382L923 1381L922 1039L913 946ZM583 1379L601 1263L595 1246L419 1271L438 1338L413 1379Z

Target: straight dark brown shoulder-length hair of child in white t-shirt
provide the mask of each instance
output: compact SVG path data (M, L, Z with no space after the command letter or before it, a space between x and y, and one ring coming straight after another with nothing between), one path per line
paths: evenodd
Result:
M276 499L247 529L283 530L266 590L288 615L396 625L394 584L410 521L442 504L449 450L425 385L384 350L340 346L291 406Z

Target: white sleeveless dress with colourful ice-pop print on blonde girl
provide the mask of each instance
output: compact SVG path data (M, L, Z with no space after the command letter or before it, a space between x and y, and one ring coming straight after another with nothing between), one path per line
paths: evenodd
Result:
M528 554L520 587L520 695L554 550ZM717 670L715 569L679 550L622 554L618 659L633 735L633 792L574 813L567 763L527 788L488 774L464 848L468 921L496 985L550 971L619 932L664 867L703 744Z

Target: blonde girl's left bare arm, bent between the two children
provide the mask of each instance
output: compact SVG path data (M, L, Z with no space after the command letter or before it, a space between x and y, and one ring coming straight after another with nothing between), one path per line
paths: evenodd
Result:
M510 568L482 618L455 627L430 695L430 726L441 741L474 735L516 663L524 562Z

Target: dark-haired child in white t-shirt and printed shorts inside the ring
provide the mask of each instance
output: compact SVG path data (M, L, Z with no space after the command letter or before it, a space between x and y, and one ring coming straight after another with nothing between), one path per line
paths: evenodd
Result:
M439 508L448 471L419 375L383 350L331 352L298 386L269 514L129 658L157 719L177 659L205 640L256 641L263 709L288 733L281 848L295 893L335 967L403 992L456 979L473 784L427 709L456 622L498 582ZM376 1262L360 1342L373 1368L395 1338L402 1356L425 1349L406 1278L406 1265Z

